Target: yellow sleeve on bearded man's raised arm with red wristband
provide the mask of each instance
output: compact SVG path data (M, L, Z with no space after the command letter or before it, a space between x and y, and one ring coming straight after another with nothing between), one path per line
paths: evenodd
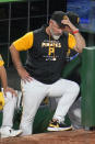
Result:
M69 33L69 38L68 38L68 45L69 45L69 48L73 49L76 45L76 41L75 41L75 37Z

